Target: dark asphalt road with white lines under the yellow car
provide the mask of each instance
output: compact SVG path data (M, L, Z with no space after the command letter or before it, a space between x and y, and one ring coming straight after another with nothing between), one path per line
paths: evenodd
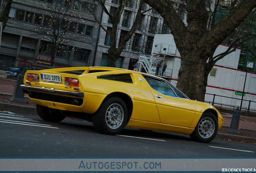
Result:
M254 144L125 128L102 135L92 123L65 119L60 123L37 115L0 111L0 157L256 157Z

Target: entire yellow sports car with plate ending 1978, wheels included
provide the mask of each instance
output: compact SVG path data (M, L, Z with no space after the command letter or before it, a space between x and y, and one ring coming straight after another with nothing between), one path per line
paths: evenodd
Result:
M224 123L215 107L190 100L167 80L110 67L28 70L23 87L45 121L66 116L91 121L99 133L116 135L124 127L214 139Z

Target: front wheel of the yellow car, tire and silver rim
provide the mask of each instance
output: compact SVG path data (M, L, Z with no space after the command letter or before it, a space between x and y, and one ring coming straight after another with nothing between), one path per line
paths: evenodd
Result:
M190 137L197 142L209 143L217 135L217 117L211 112L203 113Z

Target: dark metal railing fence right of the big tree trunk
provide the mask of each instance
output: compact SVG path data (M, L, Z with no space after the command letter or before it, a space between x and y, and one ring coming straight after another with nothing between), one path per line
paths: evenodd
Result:
M217 103L215 102L216 97L225 97L225 98L229 98L229 99L235 99L235 100L241 100L241 102L246 102L245 105L248 105L248 107L239 107L241 112L246 113L246 115L249 115L249 113L256 113L256 109L250 108L251 103L256 103L255 101L251 101L251 100L244 100L244 99L237 99L237 98L233 98L233 97L226 97L226 96L221 96L221 95L216 95L216 94L209 94L209 93L205 93L206 95L213 95L213 101L204 101L205 103L209 103L215 107L219 107L219 109L231 109L234 110L235 108L237 108L237 106L235 105L228 105L228 104L224 104L224 103ZM248 102L248 103L247 103Z

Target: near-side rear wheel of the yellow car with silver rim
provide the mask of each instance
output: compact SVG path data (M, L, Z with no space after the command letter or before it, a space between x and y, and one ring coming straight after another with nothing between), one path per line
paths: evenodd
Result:
M99 110L93 115L93 126L99 133L116 135L127 123L126 104L119 97L109 97L103 101Z

